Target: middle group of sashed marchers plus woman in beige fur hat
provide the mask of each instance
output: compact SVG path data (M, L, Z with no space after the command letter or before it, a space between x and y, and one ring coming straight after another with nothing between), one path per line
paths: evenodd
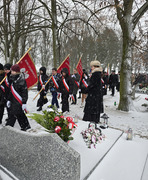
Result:
M77 93L80 89L81 106L84 107L84 121L100 121L100 113L103 112L103 88L102 88L102 67L99 61L95 60L90 63L91 75L89 76L85 69L80 75L77 69L73 70L73 74L69 74L67 68L61 70L61 74L57 73L57 69L52 69L52 75L47 76L46 68L41 67L39 72L38 91L41 91L37 101L37 111L42 110L42 106L47 103L47 91L52 94L51 105L59 108L58 98L61 96L62 112L69 112L69 98L72 99L71 104L77 104ZM49 83L47 83L49 81Z

